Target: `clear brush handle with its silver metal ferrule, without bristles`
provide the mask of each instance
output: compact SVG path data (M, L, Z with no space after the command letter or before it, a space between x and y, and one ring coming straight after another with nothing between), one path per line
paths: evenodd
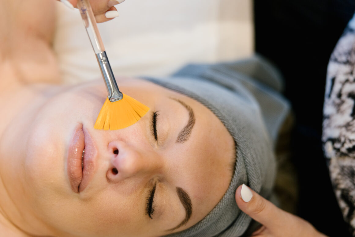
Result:
M86 32L88 33L91 46L96 54L97 62L100 65L101 74L106 84L108 98L111 102L121 100L123 94L118 89L89 0L78 0L77 6L83 19Z

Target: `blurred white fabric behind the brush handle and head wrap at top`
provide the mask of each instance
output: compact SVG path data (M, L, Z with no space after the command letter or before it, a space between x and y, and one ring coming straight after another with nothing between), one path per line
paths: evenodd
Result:
M115 75L164 76L253 54L252 0L126 0L99 30ZM54 48L67 83L100 77L78 10L58 2Z

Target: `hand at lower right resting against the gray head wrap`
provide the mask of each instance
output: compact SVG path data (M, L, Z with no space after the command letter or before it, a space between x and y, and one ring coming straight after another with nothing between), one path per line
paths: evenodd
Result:
M237 188L235 200L242 211L263 225L252 236L326 237L307 221L279 209L244 184Z

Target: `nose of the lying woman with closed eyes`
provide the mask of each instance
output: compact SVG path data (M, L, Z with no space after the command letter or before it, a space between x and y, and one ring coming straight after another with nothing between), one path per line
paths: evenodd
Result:
M144 144L113 141L108 145L108 152L110 166L106 177L114 183L126 178L153 174L163 167L158 153Z

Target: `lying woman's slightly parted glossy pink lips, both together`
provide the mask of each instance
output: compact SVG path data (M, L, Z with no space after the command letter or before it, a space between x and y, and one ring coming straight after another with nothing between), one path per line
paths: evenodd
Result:
M82 158L84 148L85 153ZM67 174L71 189L75 193L83 191L92 180L96 154L97 150L89 132L82 124L78 125L69 143L67 156Z

